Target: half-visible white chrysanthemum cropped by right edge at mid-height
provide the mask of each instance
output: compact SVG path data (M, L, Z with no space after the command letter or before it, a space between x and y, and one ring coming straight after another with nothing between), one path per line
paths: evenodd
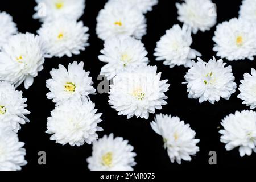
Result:
M245 73L243 80L239 85L240 94L237 96L243 100L243 104L250 106L250 109L256 108L256 70L251 69L251 75Z

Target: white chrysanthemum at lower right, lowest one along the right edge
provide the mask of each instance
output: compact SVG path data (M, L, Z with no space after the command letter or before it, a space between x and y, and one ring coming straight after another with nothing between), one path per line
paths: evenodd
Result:
M220 130L221 142L226 143L226 150L239 147L240 156L256 152L256 112L252 110L236 111L222 119Z

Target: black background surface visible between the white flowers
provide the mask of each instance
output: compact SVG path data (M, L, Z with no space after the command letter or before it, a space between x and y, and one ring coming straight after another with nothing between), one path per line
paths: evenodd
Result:
M162 72L162 80L168 79L171 84L170 90L166 92L168 96L168 105L163 106L162 110L157 110L156 114L164 113L179 116L185 123L189 123L191 128L196 131L196 138L200 139L198 144L200 151L196 156L192 157L191 162L182 161L182 164L171 163L168 158L167 151L163 148L162 138L157 135L150 127L150 122L154 119L154 114L150 114L148 120L141 118L131 118L118 116L117 111L110 109L108 105L108 94L97 94L90 96L93 102L96 103L96 108L99 113L103 113L100 126L104 131L98 132L102 137L104 134L114 133L116 136L121 136L134 146L137 157L135 158L137 166L135 170L183 170L195 168L255 168L255 153L251 156L241 158L238 148L232 151L226 151L224 144L220 142L220 134L218 127L221 119L236 110L249 109L242 105L242 101L237 98L238 90L232 94L230 100L221 99L214 105L209 102L199 104L198 100L187 98L187 86L181 84L184 81L184 75L187 68L175 67L168 68L164 66L162 61L155 61L153 56L156 42L160 36L164 35L165 31L171 28L174 24L181 23L177 20L177 9L175 2L180 1L164 1L159 0L159 4L154 6L153 11L146 14L147 18L147 35L143 36L144 43L151 65L158 66L158 72ZM221 23L225 20L238 16L239 6L241 1L213 1L217 4L217 22ZM89 43L80 55L73 55L71 58L64 56L61 59L53 58L46 59L43 71L39 72L35 78L34 84L28 90L25 90L23 85L19 86L18 90L23 91L23 97L28 98L27 109L31 111L28 115L30 123L22 126L19 131L19 139L26 143L24 146L27 150L26 160L28 164L23 170L32 169L81 169L88 170L86 158L91 155L92 146L84 144L80 147L71 147L68 144L61 146L55 141L49 140L51 135L46 134L47 117L50 111L54 109L55 104L51 100L47 100L46 80L51 78L49 71L52 68L57 68L58 64L63 64L67 67L68 63L74 60L84 61L85 70L90 71L90 76L93 77L94 88L97 88L97 76L100 73L101 63L97 56L103 48L103 42L97 38L95 34L96 16L98 11L104 7L105 1L86 1L85 13L80 20L89 27ZM31 32L36 34L36 30L40 28L38 20L32 19L34 14L34 1L0 1L0 11L6 11L13 16L14 22L18 25L20 32ZM212 51L215 27L210 31L198 32L192 35L192 48L202 53L202 59L208 61L216 53ZM236 83L239 84L243 73L250 72L251 68L255 68L255 62L249 60L241 61L226 61L228 65L232 65ZM40 166L38 164L38 152L46 151L47 164ZM217 152L217 165L210 166L208 163L209 151Z

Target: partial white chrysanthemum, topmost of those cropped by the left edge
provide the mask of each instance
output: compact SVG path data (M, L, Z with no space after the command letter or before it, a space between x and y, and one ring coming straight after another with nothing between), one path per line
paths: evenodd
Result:
M0 12L0 50L7 40L17 33L16 24L13 17L5 12Z

